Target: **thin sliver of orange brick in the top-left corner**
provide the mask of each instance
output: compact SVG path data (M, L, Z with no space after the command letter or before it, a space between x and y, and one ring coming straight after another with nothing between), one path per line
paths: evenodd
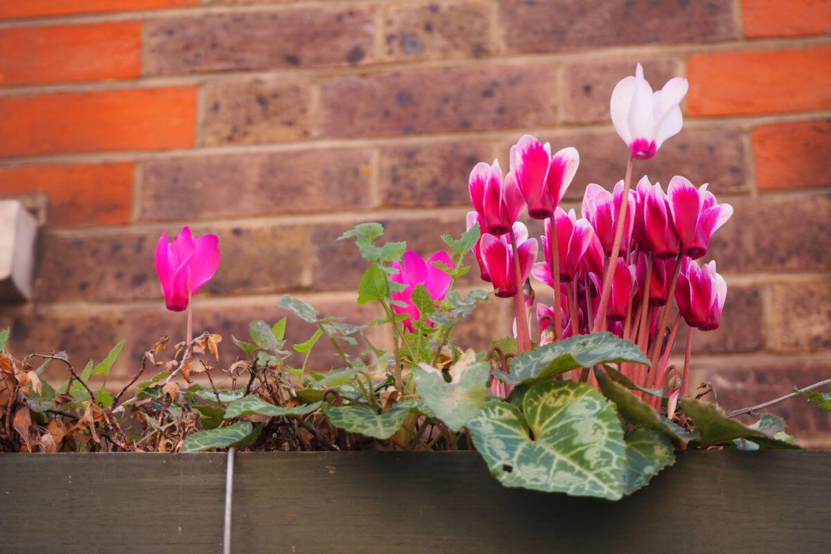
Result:
M199 0L3 0L0 19L194 6Z

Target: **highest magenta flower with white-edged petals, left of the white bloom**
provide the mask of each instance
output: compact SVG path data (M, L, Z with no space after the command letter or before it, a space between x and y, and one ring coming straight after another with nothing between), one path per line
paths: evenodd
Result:
M550 218L580 164L575 148L563 148L551 155L551 145L531 135L523 135L511 146L511 169L516 173L519 189L528 213L534 219Z

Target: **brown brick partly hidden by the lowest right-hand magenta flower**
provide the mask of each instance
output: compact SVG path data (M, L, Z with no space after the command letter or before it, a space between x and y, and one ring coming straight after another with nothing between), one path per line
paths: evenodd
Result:
M763 350L764 321L760 287L732 286L728 283L721 325L715 331L693 331L693 351L696 354L720 354ZM678 352L684 350L685 341L686 331L679 332L676 340Z

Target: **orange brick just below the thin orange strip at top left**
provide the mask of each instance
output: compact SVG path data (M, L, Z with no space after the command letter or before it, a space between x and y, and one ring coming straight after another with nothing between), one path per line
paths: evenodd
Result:
M141 23L0 30L0 85L129 79L141 72Z

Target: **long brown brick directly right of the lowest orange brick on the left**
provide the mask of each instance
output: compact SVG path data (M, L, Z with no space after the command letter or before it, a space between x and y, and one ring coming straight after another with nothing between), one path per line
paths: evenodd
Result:
M307 150L152 160L140 218L220 218L368 208L367 150ZM229 186L233 183L234 186Z

